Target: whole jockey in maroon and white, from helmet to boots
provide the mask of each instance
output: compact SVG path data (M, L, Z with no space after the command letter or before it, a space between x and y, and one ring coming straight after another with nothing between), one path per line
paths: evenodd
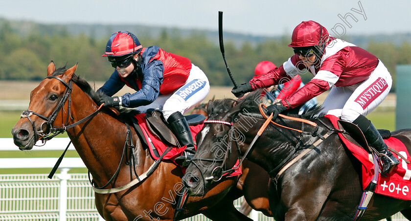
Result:
M322 111L356 124L369 146L379 152L383 174L392 172L399 160L388 151L380 133L365 117L381 104L391 89L391 75L384 64L368 51L330 36L326 28L314 21L298 24L291 40L288 46L295 54L288 61L231 92L240 97L257 88L282 84L308 70L314 78L267 107L267 111L276 118L278 113L302 105L331 88Z

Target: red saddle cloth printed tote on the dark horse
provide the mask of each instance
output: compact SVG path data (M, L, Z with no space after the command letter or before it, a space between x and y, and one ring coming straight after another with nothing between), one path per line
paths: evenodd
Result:
M338 128L338 117L329 114L325 115L325 117L330 119L335 128ZM358 160L360 160L362 164L363 189L365 189L374 176L374 164L368 158L368 152L365 149L350 142L341 133L338 133L338 135L347 149ZM411 161L411 157L407 151L407 148L399 139L395 137L389 137L388 139L385 139L384 142L388 145L388 147L396 150L400 155L403 155L404 157L407 156L407 159ZM390 174L388 174L387 177L382 177L381 174L378 174L378 182L375 193L397 199L411 200L411 165L407 164L404 159L402 159L395 153L392 154L397 157L401 163L396 166L394 170Z

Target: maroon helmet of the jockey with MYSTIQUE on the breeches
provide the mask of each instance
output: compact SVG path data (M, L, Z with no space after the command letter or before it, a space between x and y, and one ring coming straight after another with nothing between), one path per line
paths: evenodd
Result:
M314 21L301 22L294 28L289 47L308 47L326 43L328 31Z

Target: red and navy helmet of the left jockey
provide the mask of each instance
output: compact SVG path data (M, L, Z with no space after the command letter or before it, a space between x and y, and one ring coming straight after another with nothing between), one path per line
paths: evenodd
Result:
M136 52L142 48L137 37L128 31L115 32L110 36L106 46L106 53L101 56L123 56Z

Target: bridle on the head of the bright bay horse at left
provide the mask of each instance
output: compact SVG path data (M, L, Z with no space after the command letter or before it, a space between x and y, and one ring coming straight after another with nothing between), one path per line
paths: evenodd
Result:
M68 123L68 117L70 116L71 119L73 119L71 117L71 112L70 112L70 104L71 104L71 90L72 90L72 81L71 79L67 82L65 82L63 79L57 77L57 76L47 76L46 78L54 78L59 80L61 83L63 83L64 86L66 86L66 90L63 94L63 97L60 99L56 109L53 110L53 112L50 114L50 116L46 117L43 114L37 113L33 110L24 110L21 117L25 118L27 117L27 119L30 121L32 127L33 127L33 131L34 131L34 142L36 143L39 139L41 139L43 141L43 145L46 143L47 140L50 140L51 138L55 137L56 135L60 134L60 133L64 133L65 131L67 131L67 129L70 129L74 126L77 126L81 123L83 123L84 121L90 119L91 117L93 117L94 115L97 114L97 112L100 110L100 108L102 106L100 106L100 108L98 108L96 111L94 111L93 113L91 113L90 115L88 115L87 117L77 121L76 123L67 125ZM46 79L45 78L45 79ZM64 110L63 106L66 103L66 101L68 101L68 110L67 113ZM67 118L66 118L66 122L61 126L61 127L53 127L53 123L54 120L57 117L58 112L62 110L62 112L64 111L67 114ZM32 114L35 114L37 116L39 116L40 118L42 118L43 120L45 120L41 125L40 125L40 131L38 131L36 129L36 125L34 123L34 121L30 118L30 116ZM48 128L48 133L45 134L44 131L42 130L43 125L46 124L46 128ZM42 146L42 145L41 145Z

